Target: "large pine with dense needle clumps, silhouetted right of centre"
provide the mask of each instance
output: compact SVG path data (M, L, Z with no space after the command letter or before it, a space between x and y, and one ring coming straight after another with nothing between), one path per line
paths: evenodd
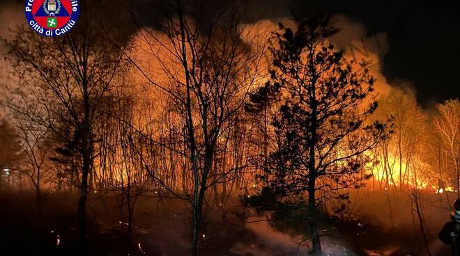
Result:
M252 202L265 209L282 204L307 212L302 216L309 223L312 255L321 255L319 191L359 186L355 174L362 153L389 131L380 122L366 123L377 106L369 96L374 78L365 61L347 62L328 42L338 31L330 19L312 15L295 21L297 31L280 24L282 32L275 33L271 79L254 93L249 108L263 109L263 99L277 108L271 124L275 150L262 177L266 186ZM279 100L273 100L275 95Z

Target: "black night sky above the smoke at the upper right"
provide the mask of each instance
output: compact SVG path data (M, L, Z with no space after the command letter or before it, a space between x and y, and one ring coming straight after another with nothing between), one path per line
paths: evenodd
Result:
M333 1L318 10L358 19L369 33L387 33L382 72L393 86L411 84L422 106L460 97L458 2Z

